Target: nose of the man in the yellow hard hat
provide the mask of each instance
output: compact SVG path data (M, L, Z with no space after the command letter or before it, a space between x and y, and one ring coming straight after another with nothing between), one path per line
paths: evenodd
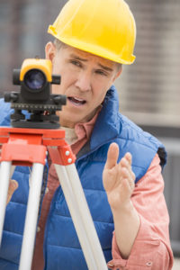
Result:
M82 92L91 90L91 74L87 70L82 70L78 74L75 85Z

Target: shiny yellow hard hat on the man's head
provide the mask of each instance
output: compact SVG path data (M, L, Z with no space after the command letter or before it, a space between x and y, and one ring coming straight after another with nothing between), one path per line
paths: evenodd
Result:
M48 32L117 63L130 65L135 59L136 24L123 0L69 0Z

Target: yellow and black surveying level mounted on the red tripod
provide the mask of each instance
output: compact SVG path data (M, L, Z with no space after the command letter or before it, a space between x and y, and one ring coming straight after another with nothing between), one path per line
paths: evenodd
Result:
M62 105L66 104L66 96L51 94L51 85L60 84L60 76L51 75L51 72L51 61L40 58L25 59L21 69L14 69L13 82L14 85L21 85L20 92L4 94L4 101L11 103L14 109L11 114L13 127L59 128L56 112L61 111Z

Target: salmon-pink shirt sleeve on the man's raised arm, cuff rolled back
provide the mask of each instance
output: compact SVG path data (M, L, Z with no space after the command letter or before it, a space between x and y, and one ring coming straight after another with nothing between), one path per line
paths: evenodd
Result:
M115 234L112 237L112 261L110 269L126 270L170 270L173 253L169 240L169 216L166 208L164 180L156 155L148 172L135 185L131 201L139 213L139 232L130 251L130 257L123 259L117 246Z

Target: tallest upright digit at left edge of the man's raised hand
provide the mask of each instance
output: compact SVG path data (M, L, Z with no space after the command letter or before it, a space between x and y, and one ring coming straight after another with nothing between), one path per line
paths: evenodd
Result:
M119 147L115 142L112 142L107 153L105 168L111 169L113 166L116 166L118 156L119 156Z

